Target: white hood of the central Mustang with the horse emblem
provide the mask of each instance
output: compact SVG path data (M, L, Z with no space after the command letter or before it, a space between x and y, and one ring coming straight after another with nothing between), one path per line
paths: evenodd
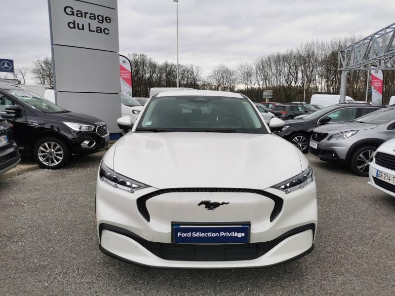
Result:
M273 134L135 132L114 150L116 172L157 188L264 189L302 172L297 149Z

